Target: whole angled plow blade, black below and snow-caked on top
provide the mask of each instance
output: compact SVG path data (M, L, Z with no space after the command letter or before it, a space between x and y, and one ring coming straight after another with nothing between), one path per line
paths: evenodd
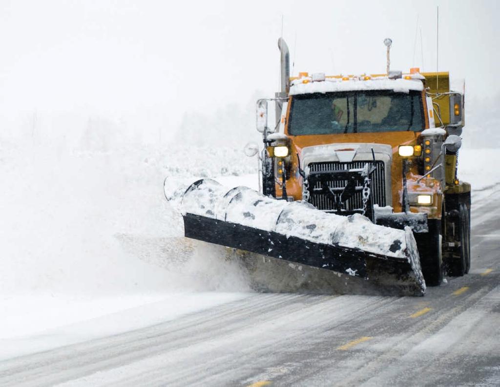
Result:
M180 211L187 238L316 268L323 278L345 284L356 277L361 286L357 281L355 288L366 284L368 293L419 296L425 292L409 228L374 225L359 214L328 214L246 187L227 189L210 179L198 180L185 190ZM319 287L325 293L324 281ZM332 288L334 293L366 293Z

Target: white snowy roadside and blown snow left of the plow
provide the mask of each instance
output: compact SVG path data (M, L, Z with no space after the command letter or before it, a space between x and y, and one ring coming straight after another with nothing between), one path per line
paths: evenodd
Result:
M162 316L176 316L249 290L220 249L184 243L162 190L165 176L255 173L242 150L34 142L0 142L0 347L144 304L175 298Z

